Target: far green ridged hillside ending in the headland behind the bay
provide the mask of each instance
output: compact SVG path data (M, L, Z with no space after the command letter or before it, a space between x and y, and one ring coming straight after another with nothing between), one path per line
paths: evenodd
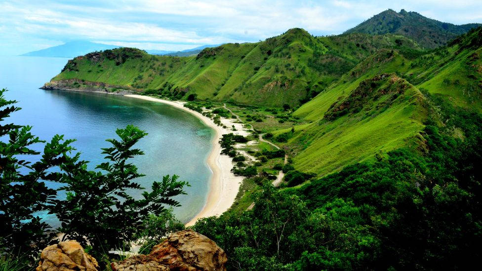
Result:
M175 99L281 107L300 105L381 48L418 44L396 35L313 37L302 29L257 43L205 48L197 56L153 56L120 48L77 57L52 83L108 83ZM67 81L68 80L68 81Z

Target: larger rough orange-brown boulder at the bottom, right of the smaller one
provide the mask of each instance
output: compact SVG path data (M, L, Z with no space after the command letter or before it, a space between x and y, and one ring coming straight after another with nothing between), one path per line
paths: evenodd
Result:
M206 236L192 230L172 233L149 255L112 263L113 271L226 270L226 253Z

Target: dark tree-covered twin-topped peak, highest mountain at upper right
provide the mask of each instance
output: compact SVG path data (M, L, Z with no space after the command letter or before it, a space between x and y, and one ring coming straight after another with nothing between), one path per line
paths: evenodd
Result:
M345 34L382 35L392 33L413 39L425 48L436 48L481 25L454 25L429 19L413 11L406 12L402 9L397 13L388 9L346 31Z

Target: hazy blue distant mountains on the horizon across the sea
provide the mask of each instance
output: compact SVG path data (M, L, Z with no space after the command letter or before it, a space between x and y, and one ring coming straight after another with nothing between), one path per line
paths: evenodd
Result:
M196 55L201 52L202 49L207 47L216 47L216 45L202 45L196 48L187 49L183 51L166 51L166 50L145 50L148 54L152 55L170 55L170 56L190 56ZM62 45L49 47L46 49L32 51L23 56L42 56L42 57L69 57L74 58L76 56L85 55L94 51L103 51L108 49L119 48L121 46L109 45L103 43L90 42L85 40L70 41Z

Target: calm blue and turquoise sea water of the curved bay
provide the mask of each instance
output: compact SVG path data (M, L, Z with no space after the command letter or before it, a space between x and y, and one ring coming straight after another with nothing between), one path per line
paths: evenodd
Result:
M32 125L33 134L50 140L55 134L75 138L73 144L81 158L91 161L91 168L102 162L100 148L110 147L105 141L114 138L116 128L134 124L149 133L137 148L145 155L134 163L146 174L137 180L145 188L164 175L176 174L188 181L187 195L177 200L177 218L189 221L206 201L211 171L206 164L212 148L213 131L195 116L174 107L134 98L102 93L52 91L38 89L58 74L66 58L0 56L0 88L9 91L6 97L17 100L21 111L9 122ZM35 147L38 150L42 146ZM50 183L50 187L58 184ZM142 191L131 193L139 197ZM56 219L44 215L56 226Z

